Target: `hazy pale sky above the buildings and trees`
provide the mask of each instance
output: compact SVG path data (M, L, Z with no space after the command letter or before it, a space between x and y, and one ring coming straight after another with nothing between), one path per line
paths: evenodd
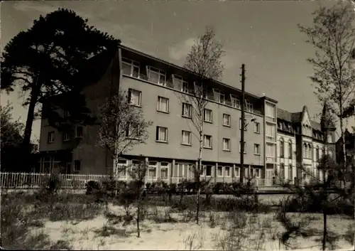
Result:
M312 12L329 1L2 1L1 48L40 15L58 7L72 9L89 24L121 39L125 46L182 65L194 39L214 26L224 43L223 82L241 88L246 64L246 91L278 100L278 107L310 116L321 107L313 94L312 67L305 59L312 46L297 23L312 25ZM18 92L1 95L13 103L14 117L26 122L27 108ZM355 125L354 119L350 122ZM40 121L33 124L39 137Z

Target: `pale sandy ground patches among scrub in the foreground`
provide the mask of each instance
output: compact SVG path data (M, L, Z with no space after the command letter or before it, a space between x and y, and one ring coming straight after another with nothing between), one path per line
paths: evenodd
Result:
M158 210L163 213L166 209L158 208ZM109 211L119 215L123 213L122 208L114 205L109 205ZM309 214L308 216L312 216L310 226L322 228L322 215ZM173 217L178 216L173 215ZM222 219L223 217L223 213L214 213L214 218ZM294 214L293 217L300 218L302 216ZM152 220L145 220L141 223L141 237L139 238L135 222L126 226L123 226L122 223L115 224L103 214L93 220L79 223L46 222L43 228L33 229L33 231L44 230L53 242L68 240L74 250L222 250L217 243L228 233L226 223L223 226L223 224L218 224L222 221L216 220L217 224L212 227L210 218L210 215L205 215L200 225L192 222L155 223ZM283 246L279 245L277 239L271 240L272 236L276 237L283 232L280 223L273 219L273 214L260 214L257 218L258 222L269 221L271 223L266 230L268 240L263 245L263 250L285 250ZM351 223L353 223L351 219L338 215L329 216L328 220L329 230L338 234L345 233ZM260 230L257 228L251 233L255 232L254 235L256 235L256 232ZM107 231L103 231L104 229ZM249 242L255 242L257 238L258 236ZM297 249L302 248L302 250L320 250L320 242L315 242L312 239L297 239L293 245ZM351 249L351 245L345 240L339 240L337 245L341 249Z

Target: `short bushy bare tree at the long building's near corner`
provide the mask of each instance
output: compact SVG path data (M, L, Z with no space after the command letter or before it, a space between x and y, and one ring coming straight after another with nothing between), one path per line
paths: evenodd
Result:
M143 118L141 109L130 103L130 93L119 90L99 108L98 145L108 149L114 159L116 177L127 169L119 166L120 157L133 146L145 144L149 136L147 129L153 124Z

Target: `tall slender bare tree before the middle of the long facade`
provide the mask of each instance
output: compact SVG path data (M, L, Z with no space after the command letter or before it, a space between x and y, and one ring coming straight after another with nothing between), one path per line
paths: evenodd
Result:
M207 105L207 82L219 80L222 77L224 66L222 56L224 55L223 44L215 38L214 28L208 26L206 31L199 36L187 55L184 67L194 73L196 81L193 87L186 87L187 82L174 80L178 89L188 93L179 93L180 101L183 104L182 112L185 117L190 117L190 124L194 127L192 134L199 141L199 156L197 166L192 166L197 185L197 213L196 222L199 221L200 210L200 176L204 172L202 167L202 149L204 146L204 108ZM191 83L189 83L191 84ZM187 84L188 85L188 84ZM186 88L186 90L184 90ZM205 183L205 182L204 182Z

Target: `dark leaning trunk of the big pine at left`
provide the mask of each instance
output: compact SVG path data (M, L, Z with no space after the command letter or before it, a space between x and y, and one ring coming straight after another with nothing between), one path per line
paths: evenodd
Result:
M32 133L32 124L33 119L35 118L35 105L38 99L38 91L33 89L31 91L31 100L30 105L28 106L27 120L25 132L23 134L22 146L25 151L25 154L31 154L31 133Z

